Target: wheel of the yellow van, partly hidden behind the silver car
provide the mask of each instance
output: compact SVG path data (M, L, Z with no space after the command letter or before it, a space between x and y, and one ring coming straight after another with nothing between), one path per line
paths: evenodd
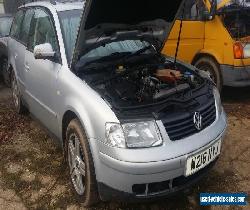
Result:
M218 90L222 90L222 77L218 63L209 57L202 57L194 64L198 69L209 72Z

